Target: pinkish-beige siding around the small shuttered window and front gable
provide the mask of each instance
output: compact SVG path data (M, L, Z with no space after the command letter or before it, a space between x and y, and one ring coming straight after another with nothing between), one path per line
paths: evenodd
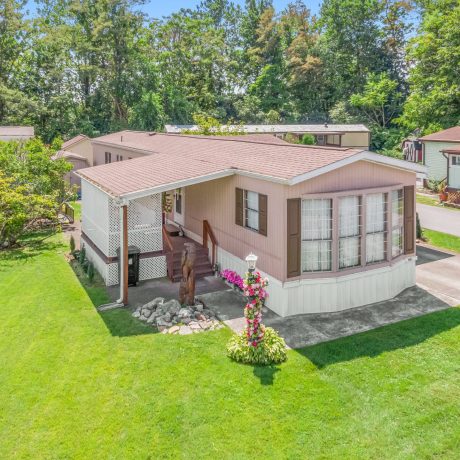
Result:
M287 200L304 194L415 185L415 174L360 161L295 186L231 176L186 188L185 229L202 235L203 220L209 221L219 246L243 259L254 252L258 268L280 281L287 279ZM235 189L266 194L267 236L235 223ZM226 267L221 267L226 268Z

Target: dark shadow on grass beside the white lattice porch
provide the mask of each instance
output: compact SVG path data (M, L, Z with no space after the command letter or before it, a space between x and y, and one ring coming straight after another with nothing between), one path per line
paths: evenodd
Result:
M95 308L111 302L107 288L99 274L96 273L93 282L90 282L76 260L70 261L70 266ZM154 327L133 318L131 313L131 310L128 308L98 311L102 321L104 321L110 334L114 337L129 337L158 333L157 329Z

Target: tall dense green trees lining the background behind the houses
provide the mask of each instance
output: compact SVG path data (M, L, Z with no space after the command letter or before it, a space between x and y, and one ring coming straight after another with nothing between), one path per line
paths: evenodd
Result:
M194 114L399 137L460 120L457 0L324 0L317 16L302 0L203 0L161 19L142 3L39 0L27 18L0 0L0 124L50 142Z

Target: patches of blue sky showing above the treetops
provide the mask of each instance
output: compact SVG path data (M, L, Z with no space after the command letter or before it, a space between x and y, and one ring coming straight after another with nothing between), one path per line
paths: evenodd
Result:
M147 13L151 17L161 18L162 16L168 16L180 8L194 8L200 3L201 0L150 0L140 8L142 11ZM292 1L292 0L291 0ZM244 5L244 0L234 0L235 3ZM273 4L276 11L281 11L290 3L290 0L274 0ZM305 4L311 9L312 14L316 14L319 11L319 5L321 0L305 0ZM36 5L33 0L27 2L27 10L29 15L33 16L35 13Z

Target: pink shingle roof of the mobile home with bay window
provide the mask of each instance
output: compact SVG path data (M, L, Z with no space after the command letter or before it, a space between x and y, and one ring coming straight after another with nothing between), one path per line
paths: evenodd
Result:
M358 149L260 142L249 139L249 136L236 139L233 136L152 135L123 131L93 139L93 142L147 154L142 158L79 171L81 177L115 196L161 187L175 188L180 187L182 181L195 180L196 183L199 178L210 180L235 173L288 183L361 153L370 154ZM370 155L382 158L377 161L390 161L381 155ZM391 161L399 162L398 167L412 167L401 160ZM182 185L191 185L191 182Z

